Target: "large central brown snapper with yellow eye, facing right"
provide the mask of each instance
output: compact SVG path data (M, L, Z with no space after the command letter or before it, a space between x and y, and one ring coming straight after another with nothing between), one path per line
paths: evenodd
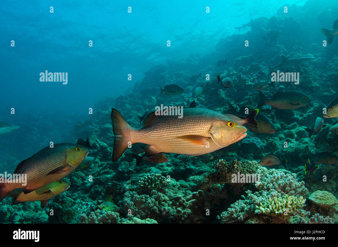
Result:
M184 108L183 117L150 113L143 128L128 125L121 114L112 109L115 135L113 162L127 149L128 144L145 143L147 157L159 153L202 155L242 140L246 128L222 113L204 108Z

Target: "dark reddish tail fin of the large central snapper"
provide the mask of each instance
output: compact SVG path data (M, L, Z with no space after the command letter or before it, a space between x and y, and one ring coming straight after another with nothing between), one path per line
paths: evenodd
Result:
M132 130L130 125L123 119L122 115L112 108L112 125L115 136L113 149L113 162L117 161L128 147L127 133ZM130 141L130 140L129 140Z

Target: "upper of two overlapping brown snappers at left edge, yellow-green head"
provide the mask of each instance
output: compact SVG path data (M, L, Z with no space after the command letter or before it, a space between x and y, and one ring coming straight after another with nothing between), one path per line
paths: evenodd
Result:
M32 157L21 161L15 169L14 174L26 174L26 183L0 182L0 201L14 189L21 188L27 194L66 177L87 157L88 152L88 148L73 143L57 143L53 147L45 147Z

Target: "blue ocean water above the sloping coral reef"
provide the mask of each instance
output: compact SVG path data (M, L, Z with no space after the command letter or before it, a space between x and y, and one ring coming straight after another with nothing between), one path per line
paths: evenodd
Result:
M320 45L325 36L318 30L332 28L337 19L336 1L318 3L313 0L294 0L287 4L284 0L145 3L10 1L1 5L0 121L18 125L20 129L0 136L0 169L15 169L20 161L48 146L50 141L61 143L86 139L87 136L80 136L79 133L84 131L77 129L77 126L101 116L98 110L111 110L109 107L112 107L107 103L106 108L99 109L96 107L98 102L105 97L117 98L120 95L130 97L132 101L139 91L145 90L148 83L144 81L145 75L154 66L185 61L184 64L175 65L175 68L180 69L177 73L184 71L182 74L186 73L187 78L201 71L216 75L219 73L215 67L218 60L227 59L229 66L232 66L241 62L236 59L253 55L254 58L247 58L254 59L252 63L263 61L265 65L274 65L280 62L281 51L288 50L290 54L293 53L291 55L297 51L304 56L315 56L315 66L324 71L328 61L337 56L337 37L331 46L322 49ZM131 13L128 13L129 6ZM284 6L288 6L288 13L283 12ZM325 15L325 6L331 9L332 15ZM206 12L206 7L210 8L210 12ZM285 22L292 25L278 26L280 23L274 23L274 17L284 18ZM258 39L263 30L257 27L255 30L255 27L241 30L234 28L259 18L266 18L269 25L276 24L276 27L283 29L277 39L283 47L277 43L274 50L263 39ZM243 45L234 52L234 47L244 42L243 37L248 38L250 49ZM293 37L297 43L292 43ZM15 46L11 46L12 40ZM170 40L170 47L167 46L167 40ZM92 46L89 46L90 41ZM239 67L237 65L234 67ZM40 73L45 71L68 73L67 84L41 82ZM237 72L243 72L243 67L231 72L234 78ZM129 74L131 80L128 80ZM149 85L163 86L171 81L165 73L156 75L156 78L160 79L149 80ZM321 77L317 78L321 80ZM248 95L254 97L247 92L245 82L239 77L237 80L237 89L232 95L234 100L244 99ZM193 83L188 84L190 87L195 86ZM303 85L301 89L307 90ZM326 96L314 94L312 98L326 104L327 97L333 99L331 95L329 91ZM123 100L128 102L128 99ZM142 99L138 100L139 104L130 105L142 115L146 107L142 106L141 110L138 107L147 104ZM171 103L166 100L166 103ZM191 99L175 99L175 102L179 101L188 102ZM200 104L208 106L208 102L202 100ZM120 107L123 106L121 104ZM11 114L12 108L15 114ZM93 108L93 116L88 114L90 108ZM307 116L304 113L304 117ZM107 118L102 120L106 121L104 124L111 122L110 115ZM126 119L131 118L128 116ZM313 124L312 120L307 120L308 127ZM291 124L288 119L284 122ZM304 122L297 124L304 125ZM279 126L280 129L285 127L283 124ZM89 132L86 134L93 134ZM100 129L99 132L103 131Z

